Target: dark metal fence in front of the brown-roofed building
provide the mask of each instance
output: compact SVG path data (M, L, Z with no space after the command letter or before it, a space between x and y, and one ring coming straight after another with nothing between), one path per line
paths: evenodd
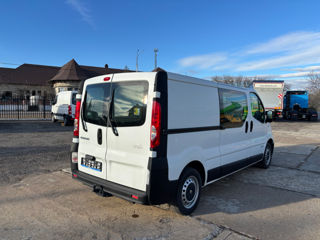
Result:
M29 99L0 100L0 120L51 119L51 98L32 96Z

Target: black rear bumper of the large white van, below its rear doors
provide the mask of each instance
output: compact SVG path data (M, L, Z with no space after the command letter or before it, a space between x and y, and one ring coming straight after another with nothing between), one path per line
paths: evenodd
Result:
M124 198L128 201L148 204L148 196L146 192L103 180L77 170L72 171L72 178L77 179L92 188L93 186L102 187L104 191L111 193L114 196ZM132 198L132 195L136 196L137 199Z

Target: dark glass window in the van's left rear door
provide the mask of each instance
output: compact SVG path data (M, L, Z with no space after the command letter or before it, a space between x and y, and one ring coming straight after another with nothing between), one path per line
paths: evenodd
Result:
M107 126L109 84L92 84L86 88L83 119L86 122Z

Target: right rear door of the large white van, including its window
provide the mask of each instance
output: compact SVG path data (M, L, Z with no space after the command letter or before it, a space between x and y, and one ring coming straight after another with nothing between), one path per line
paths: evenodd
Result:
M139 80L130 75L130 81L128 76L115 75L112 82L112 126L107 129L107 180L145 191L149 179L150 86L153 84L141 79L141 75Z

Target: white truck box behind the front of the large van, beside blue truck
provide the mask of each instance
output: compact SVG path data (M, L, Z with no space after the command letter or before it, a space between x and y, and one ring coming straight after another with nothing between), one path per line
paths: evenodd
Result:
M253 88L259 94L265 109L272 111L273 118L282 117L284 81L255 80Z

